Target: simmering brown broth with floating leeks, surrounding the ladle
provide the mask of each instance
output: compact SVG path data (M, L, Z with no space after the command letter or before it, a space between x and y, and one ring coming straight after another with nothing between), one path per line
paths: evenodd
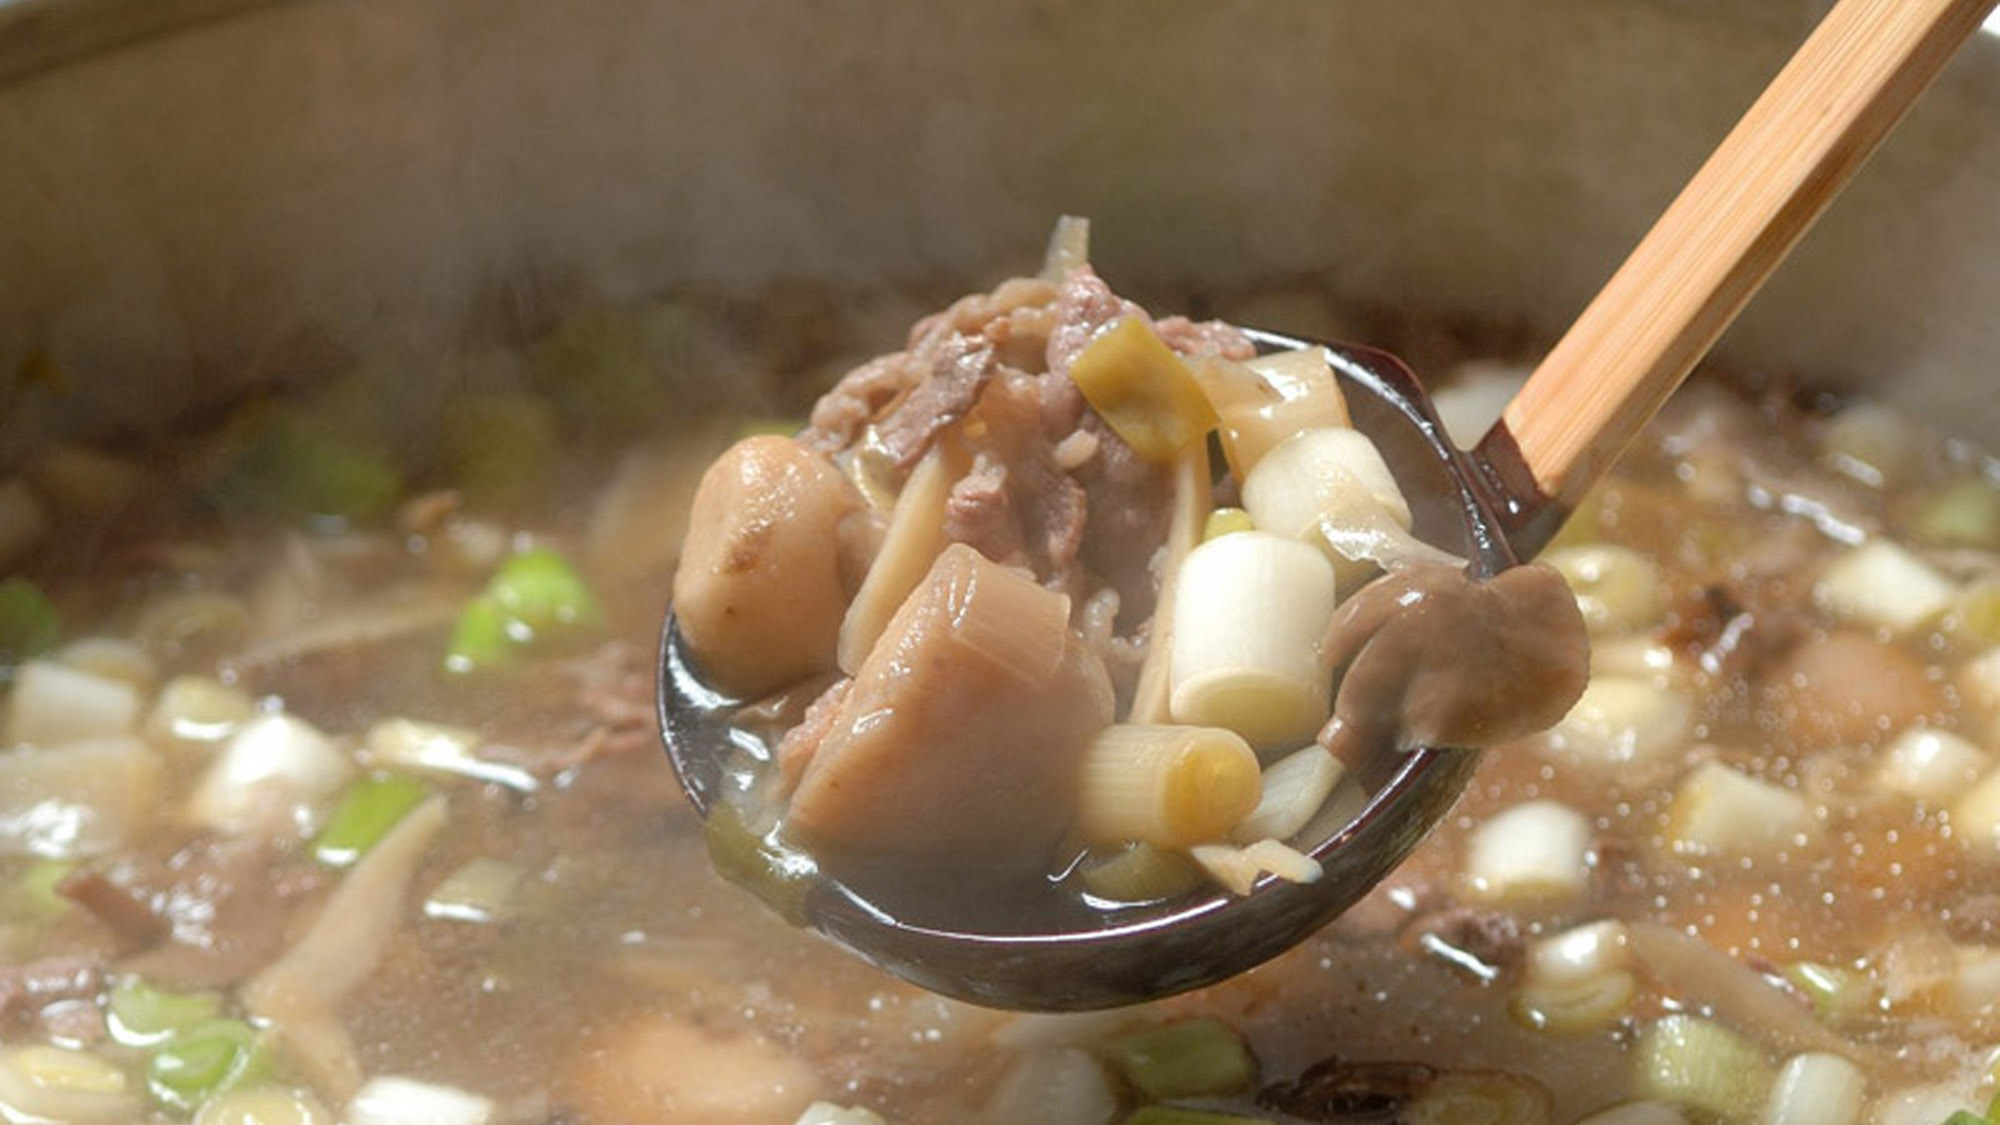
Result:
M0 1115L1382 1121L1462 1095L1508 1121L1634 1099L1748 1121L1798 1113L1774 1093L1790 1067L1820 1091L1858 1075L1822 1119L1986 1107L1982 450L1696 382L1550 552L1594 623L1570 719L1488 753L1388 885L1276 963L1016 1017L718 881L658 755L654 631L694 472L894 342L828 308L592 312L468 358L434 400L364 366L240 408L166 480L104 450L34 462L18 488L48 518L24 524L0 641ZM1378 338L1424 370L1528 352ZM698 412L708 382L676 364L796 378Z

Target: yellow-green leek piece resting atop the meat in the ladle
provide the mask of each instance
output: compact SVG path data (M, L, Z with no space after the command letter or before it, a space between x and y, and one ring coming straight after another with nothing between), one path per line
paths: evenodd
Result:
M1138 316L1098 332L1070 360L1070 378L1112 432L1148 460L1172 460L1216 426L1194 372Z

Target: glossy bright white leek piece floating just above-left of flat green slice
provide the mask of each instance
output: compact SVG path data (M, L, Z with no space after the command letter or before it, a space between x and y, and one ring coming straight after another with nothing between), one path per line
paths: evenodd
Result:
M188 813L198 825L246 833L276 807L304 835L310 807L340 793L352 773L348 755L304 719L264 715L222 747L188 799Z

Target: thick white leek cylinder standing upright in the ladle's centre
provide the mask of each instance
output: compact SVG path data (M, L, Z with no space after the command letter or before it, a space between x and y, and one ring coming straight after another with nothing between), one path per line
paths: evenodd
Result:
M1332 615L1334 571L1312 546L1262 530L1196 546L1174 591L1174 721L1254 747L1312 739L1332 711Z

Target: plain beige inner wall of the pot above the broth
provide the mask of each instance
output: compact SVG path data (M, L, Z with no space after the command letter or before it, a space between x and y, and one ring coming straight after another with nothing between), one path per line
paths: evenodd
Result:
M0 456L460 346L510 286L984 284L1062 212L1142 294L1312 276L1554 332L1818 8L280 4L0 86ZM1726 350L1976 424L1996 108L1978 36Z

